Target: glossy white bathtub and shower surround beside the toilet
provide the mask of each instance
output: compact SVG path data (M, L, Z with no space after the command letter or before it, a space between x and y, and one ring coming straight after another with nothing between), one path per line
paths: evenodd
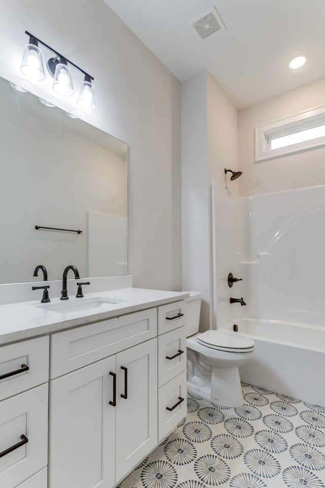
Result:
M325 406L325 186L244 198L214 187L216 326L246 324L256 343L241 379ZM229 272L243 281L230 288Z

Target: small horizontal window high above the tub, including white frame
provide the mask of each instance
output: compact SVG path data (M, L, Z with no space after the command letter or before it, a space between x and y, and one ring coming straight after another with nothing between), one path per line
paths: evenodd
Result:
M325 145L325 107L255 128L255 161Z

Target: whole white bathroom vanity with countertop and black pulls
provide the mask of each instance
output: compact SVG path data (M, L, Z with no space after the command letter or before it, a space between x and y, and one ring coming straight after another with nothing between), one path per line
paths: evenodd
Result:
M0 306L0 486L112 488L176 428L187 296Z

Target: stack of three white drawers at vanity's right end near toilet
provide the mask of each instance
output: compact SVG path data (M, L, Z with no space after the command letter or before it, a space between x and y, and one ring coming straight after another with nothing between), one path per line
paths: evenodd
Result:
M158 310L158 442L186 415L186 302Z

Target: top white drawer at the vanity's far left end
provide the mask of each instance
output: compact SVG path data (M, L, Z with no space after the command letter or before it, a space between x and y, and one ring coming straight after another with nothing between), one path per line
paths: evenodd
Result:
M5 378L0 379L0 400L48 381L48 336L0 347L2 376Z

